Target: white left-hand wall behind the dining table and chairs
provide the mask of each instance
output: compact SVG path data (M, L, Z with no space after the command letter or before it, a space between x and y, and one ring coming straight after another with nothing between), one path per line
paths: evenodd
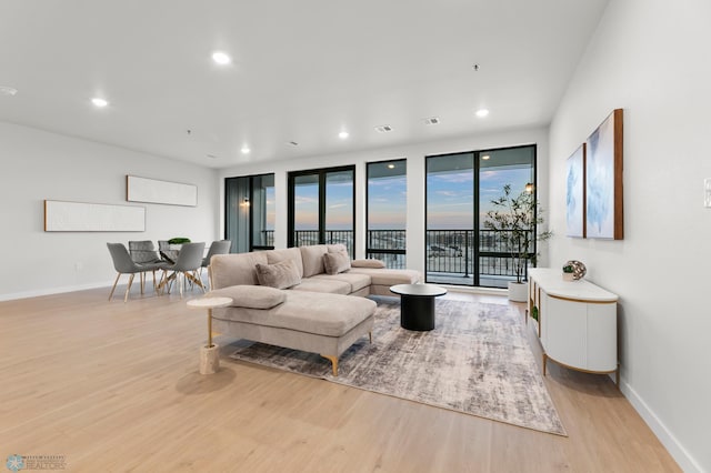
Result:
M107 242L218 235L214 170L4 122L0 162L0 300L113 283ZM127 174L196 184L198 207L127 202ZM146 231L44 232L44 199L143 205Z

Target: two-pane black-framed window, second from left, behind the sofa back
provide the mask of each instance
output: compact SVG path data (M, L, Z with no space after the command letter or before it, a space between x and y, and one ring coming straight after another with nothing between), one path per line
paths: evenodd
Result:
M356 167L289 173L289 246L342 243L354 254Z

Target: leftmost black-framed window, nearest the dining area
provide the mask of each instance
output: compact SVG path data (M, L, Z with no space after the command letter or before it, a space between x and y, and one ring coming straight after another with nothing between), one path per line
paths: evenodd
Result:
M274 174L224 180L224 238L232 251L274 248Z

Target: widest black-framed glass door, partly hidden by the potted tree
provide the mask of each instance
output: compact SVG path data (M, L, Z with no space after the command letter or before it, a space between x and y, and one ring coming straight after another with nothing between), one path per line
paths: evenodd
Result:
M535 145L428 157L427 280L505 288L515 278L511 255L484 229L487 212L505 184L525 192L534 179Z

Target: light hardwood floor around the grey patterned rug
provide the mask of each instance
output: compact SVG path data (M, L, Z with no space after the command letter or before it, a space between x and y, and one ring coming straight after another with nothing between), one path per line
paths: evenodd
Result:
M216 339L221 371L200 375L203 311L177 295L132 293L124 304L108 293L0 302L3 462L64 455L78 472L679 471L603 375L550 363L562 437L236 362L226 336Z

